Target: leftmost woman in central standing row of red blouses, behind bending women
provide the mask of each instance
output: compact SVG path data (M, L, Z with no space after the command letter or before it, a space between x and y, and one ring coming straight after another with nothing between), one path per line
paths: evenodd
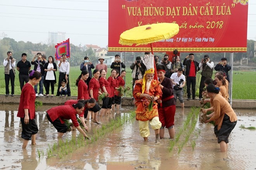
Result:
M88 86L85 83L87 78L89 77L89 72L87 70L83 70L81 75L76 79L76 86L78 87L78 95L77 100L88 100L90 99L88 95Z

